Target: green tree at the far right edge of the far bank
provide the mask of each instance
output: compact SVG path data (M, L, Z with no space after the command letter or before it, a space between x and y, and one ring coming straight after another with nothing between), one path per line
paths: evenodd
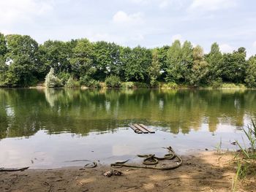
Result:
M249 88L256 88L256 55L249 58L245 82Z

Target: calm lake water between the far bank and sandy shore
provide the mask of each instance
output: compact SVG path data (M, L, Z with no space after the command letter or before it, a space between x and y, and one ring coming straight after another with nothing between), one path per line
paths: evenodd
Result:
M0 89L0 167L110 164L136 154L236 149L256 91ZM156 134L135 134L143 123Z

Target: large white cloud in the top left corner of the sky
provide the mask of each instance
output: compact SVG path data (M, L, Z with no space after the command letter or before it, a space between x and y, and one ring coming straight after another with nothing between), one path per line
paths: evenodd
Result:
M8 0L0 1L0 26L17 22L30 22L34 16L43 15L53 9L52 1Z

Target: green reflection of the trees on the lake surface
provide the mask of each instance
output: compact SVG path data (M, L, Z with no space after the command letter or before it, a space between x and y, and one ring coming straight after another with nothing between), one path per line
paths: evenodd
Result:
M241 128L256 116L256 91L0 89L0 139L116 131L131 122L173 134Z

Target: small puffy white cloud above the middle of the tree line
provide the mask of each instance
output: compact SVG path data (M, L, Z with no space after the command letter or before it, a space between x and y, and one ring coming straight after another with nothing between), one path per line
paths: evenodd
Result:
M128 15L124 11L118 11L115 15L113 15L113 22L121 24L143 23L143 14L141 12L136 12L134 14Z

